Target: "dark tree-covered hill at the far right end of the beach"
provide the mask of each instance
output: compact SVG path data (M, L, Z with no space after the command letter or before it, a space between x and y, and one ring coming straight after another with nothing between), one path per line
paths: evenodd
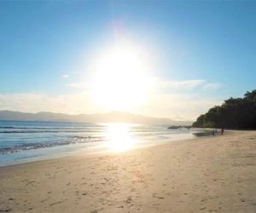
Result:
M256 89L243 98L230 98L221 106L215 106L200 117L193 127L256 129Z

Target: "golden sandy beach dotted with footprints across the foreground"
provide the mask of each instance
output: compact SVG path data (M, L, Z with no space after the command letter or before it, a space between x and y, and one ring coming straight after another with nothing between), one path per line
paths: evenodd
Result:
M256 132L0 169L0 212L256 212Z

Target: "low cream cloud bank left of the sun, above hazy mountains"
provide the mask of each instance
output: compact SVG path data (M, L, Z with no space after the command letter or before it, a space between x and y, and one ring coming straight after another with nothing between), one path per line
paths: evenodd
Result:
M47 95L35 93L0 94L0 110L21 112L92 113L102 109L91 101L90 95Z

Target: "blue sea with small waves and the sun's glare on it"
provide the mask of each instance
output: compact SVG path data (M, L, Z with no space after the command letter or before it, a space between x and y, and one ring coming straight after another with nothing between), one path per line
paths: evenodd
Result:
M0 166L78 152L125 152L163 142L193 139L201 133L201 130L168 130L167 127L152 124L0 121Z

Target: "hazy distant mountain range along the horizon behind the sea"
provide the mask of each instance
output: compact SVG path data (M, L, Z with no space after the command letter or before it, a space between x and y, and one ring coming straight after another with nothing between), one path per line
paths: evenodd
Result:
M69 115L55 112L14 112L0 111L0 120L19 121L49 121L49 122L75 122L75 123L134 123L134 124L169 124L190 125L189 121L176 121L168 118L152 118L135 115L129 112L108 112L102 114Z

